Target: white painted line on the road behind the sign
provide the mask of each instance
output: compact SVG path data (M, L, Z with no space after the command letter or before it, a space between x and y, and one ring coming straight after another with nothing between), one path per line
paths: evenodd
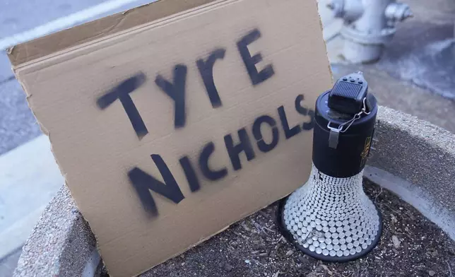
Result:
M90 18L100 16L102 13L108 13L116 8L120 8L126 4L131 4L136 1L139 0L111 0L96 6L91 6L90 8L85 8L82 11L72 13L69 16L64 16L62 18L57 18L56 20L52 20L30 30L26 30L23 33L18 33L16 35L0 39L0 49L6 49L19 43L34 40L37 37L42 37L43 35L48 35L65 28L70 28L76 24L89 20Z

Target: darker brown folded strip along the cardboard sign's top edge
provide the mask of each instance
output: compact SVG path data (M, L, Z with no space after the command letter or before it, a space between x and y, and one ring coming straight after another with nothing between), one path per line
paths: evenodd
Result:
M24 42L7 49L8 57L13 67L28 61L46 57L70 47L83 45L107 35L113 35L139 25L173 16L192 8L201 8L215 0L158 0L128 11L115 13L112 16L90 21L73 28ZM147 14L148 16L143 16Z

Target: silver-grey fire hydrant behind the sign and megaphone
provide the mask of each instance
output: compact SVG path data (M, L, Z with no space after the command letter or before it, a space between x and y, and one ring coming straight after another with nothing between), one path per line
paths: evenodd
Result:
M396 23L413 16L407 4L395 0L331 0L327 6L344 20L343 56L353 63L379 59L396 32Z

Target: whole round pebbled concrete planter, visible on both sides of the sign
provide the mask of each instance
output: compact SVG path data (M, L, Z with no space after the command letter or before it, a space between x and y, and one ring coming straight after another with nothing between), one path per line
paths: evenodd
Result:
M398 194L455 240L455 135L380 107L365 177ZM13 276L94 276L95 236L63 186L30 234Z

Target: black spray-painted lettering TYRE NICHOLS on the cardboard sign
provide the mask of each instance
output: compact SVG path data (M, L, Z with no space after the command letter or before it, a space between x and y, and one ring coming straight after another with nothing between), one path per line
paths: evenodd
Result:
M271 78L275 71L273 70L273 65L268 64L261 71L256 68L256 64L262 61L261 53L258 52L252 55L249 52L248 45L252 42L258 40L261 37L261 33L258 29L254 29L249 32L247 35L244 35L237 42L237 50L240 53L240 57L244 62L245 69L249 75L249 78L252 82L252 86L257 86L260 83ZM212 107L218 108L223 105L222 99L218 94L218 90L215 86L213 79L213 66L215 61L218 59L223 59L225 57L226 49L219 48L215 49L211 54L208 55L206 59L197 59L196 66L199 70L200 76L206 87L206 92L208 98L211 102ZM133 100L130 97L130 93L133 93L134 90L141 87L146 81L146 76L143 73L138 73L136 76L126 79L120 83L115 88L112 88L110 91L102 95L97 100L97 105L100 109L105 110L110 107L110 105L119 100L122 103L122 106L126 112L127 117L129 118L131 125L133 126L138 139L142 139L148 134L148 129L146 124L144 124L141 114L139 114L136 105L134 105ZM187 66L184 64L177 64L174 68L174 74L172 81L168 81L163 78L161 75L155 77L155 85L158 86L163 93L165 93L170 100L174 102L174 126L175 129L183 128L186 124L186 107L185 107L185 94L186 94L186 81L187 81ZM309 117L309 121L302 124L297 124L293 127L290 127L288 124L288 119L286 112L283 106L277 108L276 112L278 114L278 120L280 122L280 128L283 129L285 139L290 139L293 136L299 134L301 131L309 131L313 128L314 125L314 111L309 110L306 107L302 106L302 101L304 100L304 95L297 95L295 98L295 110L302 114L302 116ZM261 126L266 126L263 128ZM269 142L264 141L263 131L267 129L272 134L272 140ZM256 158L257 151L254 151L252 139L249 137L249 132L247 127L243 127L237 131L237 136L232 136L232 134L227 134L224 136L225 148L228 152L230 162L233 170L241 170L242 163L240 161L240 154L244 153L248 161L254 160ZM272 151L278 145L280 141L280 132L278 131L278 123L275 117L269 114L262 114L257 117L254 122L252 122L251 133L253 134L255 144L257 149L261 153L267 153ZM213 142L206 143L199 153L198 163L200 171L202 172L203 177L211 181L218 181L223 179L228 175L228 167L213 168L210 166L209 160L211 155L215 152L215 144ZM182 191L179 188L179 184L175 180L172 172L169 167L167 167L165 161L158 154L152 154L151 158L153 163L160 171L160 175L164 182L156 179L152 175L149 175L147 172L144 172L138 167L134 167L129 170L128 177L136 189L139 199L143 204L143 207L146 211L150 213L151 216L158 216L158 208L153 199L151 191L154 191L161 196L164 196L166 199L179 204L185 196L182 194ZM201 184L199 182L199 177L196 175L196 170L194 170L194 165L188 156L179 158L179 163L182 167L189 188L192 192L199 191L201 189Z

